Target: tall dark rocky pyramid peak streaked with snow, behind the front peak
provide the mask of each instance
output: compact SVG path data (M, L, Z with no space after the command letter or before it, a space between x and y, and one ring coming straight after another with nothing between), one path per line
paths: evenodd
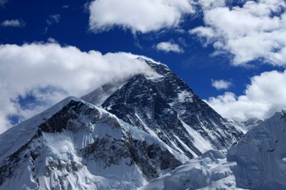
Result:
M192 89L163 64L145 61L155 74L138 74L103 101L101 107L126 123L158 136L163 142L188 158L208 149L226 149L242 132L227 122L201 100ZM116 85L108 84L96 94L108 94ZM92 94L82 97L99 103Z

